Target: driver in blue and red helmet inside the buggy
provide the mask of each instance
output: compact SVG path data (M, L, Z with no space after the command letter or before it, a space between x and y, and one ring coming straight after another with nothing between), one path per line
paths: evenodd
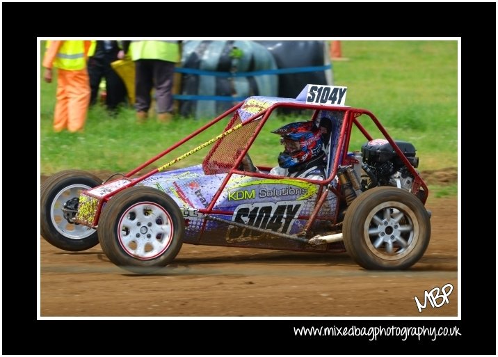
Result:
M322 150L321 130L308 122L291 122L272 133L281 136L284 151L270 175L325 180L326 154Z

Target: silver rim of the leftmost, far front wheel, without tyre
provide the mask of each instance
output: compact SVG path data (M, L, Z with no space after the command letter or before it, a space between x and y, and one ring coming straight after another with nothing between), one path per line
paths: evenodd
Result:
M71 198L79 197L81 191L91 189L85 184L72 184L59 191L50 206L50 219L54 228L69 239L83 239L93 235L95 230L86 225L69 223L64 218L63 206Z

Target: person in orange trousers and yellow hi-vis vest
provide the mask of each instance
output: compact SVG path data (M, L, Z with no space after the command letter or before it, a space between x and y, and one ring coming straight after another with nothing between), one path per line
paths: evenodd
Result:
M90 101L90 82L86 58L90 41L47 41L43 58L43 79L51 83L52 70L58 68L54 131L83 131Z

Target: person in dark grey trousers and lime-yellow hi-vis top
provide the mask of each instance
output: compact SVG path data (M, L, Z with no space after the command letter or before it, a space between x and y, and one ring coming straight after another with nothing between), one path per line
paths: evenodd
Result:
M168 122L173 112L173 75L179 61L178 41L123 41L123 49L135 61L135 109L138 122L147 119L155 88L157 119Z

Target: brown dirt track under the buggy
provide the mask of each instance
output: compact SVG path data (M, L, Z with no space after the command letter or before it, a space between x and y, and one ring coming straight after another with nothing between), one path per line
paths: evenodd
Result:
M99 246L61 251L40 239L42 317L456 317L457 200L429 197L432 235L408 271L367 271L347 255L184 244L174 264L138 276ZM453 285L421 313L414 296ZM439 299L438 302L441 302Z

